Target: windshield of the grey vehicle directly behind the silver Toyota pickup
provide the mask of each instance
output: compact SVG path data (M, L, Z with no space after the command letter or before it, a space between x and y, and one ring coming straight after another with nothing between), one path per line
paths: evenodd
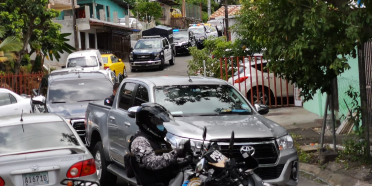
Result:
M53 81L49 87L51 103L104 100L112 94L112 83L104 79Z

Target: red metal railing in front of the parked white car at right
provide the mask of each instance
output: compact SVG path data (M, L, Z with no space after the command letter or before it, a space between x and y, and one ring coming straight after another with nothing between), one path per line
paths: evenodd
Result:
M294 106L293 84L270 73L262 56L225 57L219 63L221 79L237 87L252 105Z

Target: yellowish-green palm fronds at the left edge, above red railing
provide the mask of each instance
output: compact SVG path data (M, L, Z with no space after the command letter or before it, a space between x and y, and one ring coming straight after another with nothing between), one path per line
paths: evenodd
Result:
M0 26L0 38L4 38L5 28ZM9 36L3 41L0 39L0 62L5 62L9 60L15 60L16 55L14 52L20 51L22 49L22 42L15 36Z

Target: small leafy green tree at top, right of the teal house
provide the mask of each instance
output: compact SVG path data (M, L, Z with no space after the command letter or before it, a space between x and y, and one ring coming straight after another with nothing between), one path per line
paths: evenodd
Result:
M153 16L154 19L158 19L162 15L160 3L148 2L147 0L137 0L132 11L134 16L137 16L137 11L140 20L145 19L146 16Z

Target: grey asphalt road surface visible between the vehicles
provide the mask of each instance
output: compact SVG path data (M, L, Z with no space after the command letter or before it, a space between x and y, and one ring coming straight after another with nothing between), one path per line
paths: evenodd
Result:
M169 65L169 63L165 64L164 71L160 71L157 69L148 69L148 70L141 70L132 73L129 70L129 63L125 62L125 66L127 68L128 77L138 77L138 76L172 76L172 75L179 75L179 76L187 76L187 60L190 60L192 57L189 55L179 55L175 59L174 65ZM125 185L124 180L118 180L116 186ZM307 176L300 176L298 186L321 186L322 184L318 182L314 182L311 178Z

